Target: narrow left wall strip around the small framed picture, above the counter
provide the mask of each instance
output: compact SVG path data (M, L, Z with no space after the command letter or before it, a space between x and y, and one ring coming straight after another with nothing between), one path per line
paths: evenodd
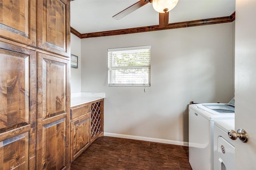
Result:
M71 54L78 56L78 68L71 68L71 93L81 92L81 39L70 35Z

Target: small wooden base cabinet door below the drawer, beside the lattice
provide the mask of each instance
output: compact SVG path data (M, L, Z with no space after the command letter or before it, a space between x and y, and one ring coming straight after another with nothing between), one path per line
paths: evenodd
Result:
M71 122L71 161L79 156L90 144L90 118L91 114L88 113Z

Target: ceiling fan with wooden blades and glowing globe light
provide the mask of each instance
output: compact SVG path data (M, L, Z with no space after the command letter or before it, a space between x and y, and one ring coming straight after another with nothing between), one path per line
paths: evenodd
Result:
M152 3L153 8L159 12L159 28L166 27L169 22L169 11L177 5L178 0L140 0L139 2L136 2L132 6L129 6L125 10L122 10L118 14L114 15L112 18L120 20L138 8L148 4L148 2Z

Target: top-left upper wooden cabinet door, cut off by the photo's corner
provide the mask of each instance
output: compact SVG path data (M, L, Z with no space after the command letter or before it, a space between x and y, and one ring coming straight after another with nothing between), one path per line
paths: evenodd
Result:
M0 0L0 36L36 47L36 0Z

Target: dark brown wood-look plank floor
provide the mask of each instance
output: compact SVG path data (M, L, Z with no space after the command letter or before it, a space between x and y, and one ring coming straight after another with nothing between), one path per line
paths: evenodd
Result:
M192 170L188 147L100 137L71 164L71 170Z

